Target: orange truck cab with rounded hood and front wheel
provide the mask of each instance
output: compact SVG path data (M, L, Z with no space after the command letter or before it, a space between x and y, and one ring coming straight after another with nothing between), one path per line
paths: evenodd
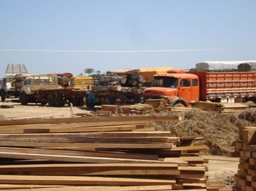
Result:
M183 69L155 74L152 87L144 90L141 102L144 103L146 99L169 99L173 107L191 107L199 101L199 77Z

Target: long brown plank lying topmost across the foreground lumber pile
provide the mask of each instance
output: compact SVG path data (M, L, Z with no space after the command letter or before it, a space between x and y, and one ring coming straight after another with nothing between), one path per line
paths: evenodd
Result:
M55 119L26 119L26 120L14 120L14 121L0 121L0 125L28 125L28 124L46 124L46 123L86 123L86 122L104 122L104 121L116 121L116 122L145 122L145 121L181 121L181 117L170 116L121 116L121 117L76 117L76 118L55 118Z

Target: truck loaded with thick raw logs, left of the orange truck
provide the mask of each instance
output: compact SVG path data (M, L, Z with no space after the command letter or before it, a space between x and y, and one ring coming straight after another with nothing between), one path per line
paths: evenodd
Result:
M139 69L107 72L100 78L100 82L86 92L87 108L93 108L95 105L139 103L143 92L141 87L145 82L139 72Z

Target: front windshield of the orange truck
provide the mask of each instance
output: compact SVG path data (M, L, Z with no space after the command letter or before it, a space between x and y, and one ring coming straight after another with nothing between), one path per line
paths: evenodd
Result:
M177 88L178 79L174 77L154 77L152 87Z

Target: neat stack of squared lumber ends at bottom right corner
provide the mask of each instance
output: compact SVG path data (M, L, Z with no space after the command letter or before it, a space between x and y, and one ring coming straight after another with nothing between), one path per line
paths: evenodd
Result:
M240 156L234 191L256 190L256 127L240 128L235 153ZM235 154L234 154L235 156ZM237 156L235 156L237 157Z

